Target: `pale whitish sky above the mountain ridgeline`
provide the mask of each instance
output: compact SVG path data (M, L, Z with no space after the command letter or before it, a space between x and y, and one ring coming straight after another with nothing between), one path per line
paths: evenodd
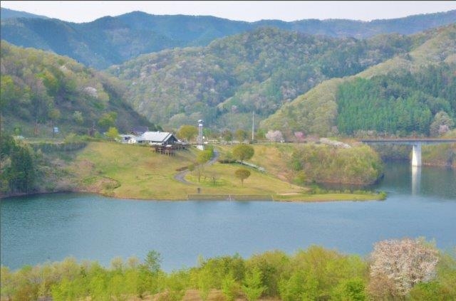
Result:
M456 9L456 1L1 1L1 7L76 23L131 11L217 16L237 21L352 19L371 21Z

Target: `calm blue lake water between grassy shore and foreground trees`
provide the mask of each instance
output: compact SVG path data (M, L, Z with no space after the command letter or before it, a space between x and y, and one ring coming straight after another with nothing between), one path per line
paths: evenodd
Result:
M294 253L323 245L371 253L373 243L424 236L456 245L456 172L386 164L375 189L385 201L132 201L92 194L46 194L1 200L1 265L60 261L68 256L109 265L117 256L162 254L167 271L204 258L266 250Z

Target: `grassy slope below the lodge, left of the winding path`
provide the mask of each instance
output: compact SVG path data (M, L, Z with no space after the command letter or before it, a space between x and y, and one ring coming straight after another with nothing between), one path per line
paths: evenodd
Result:
M82 190L128 199L185 199L195 189L175 181L174 175L192 162L193 152L167 157L149 147L90 142L71 169Z

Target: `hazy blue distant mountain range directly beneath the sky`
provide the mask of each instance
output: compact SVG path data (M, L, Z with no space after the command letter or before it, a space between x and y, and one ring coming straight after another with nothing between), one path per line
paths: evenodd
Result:
M456 10L369 22L308 19L249 23L213 16L155 16L134 11L89 23L70 23L58 19L4 19L3 8L1 14L1 38L9 43L53 51L99 69L167 48L207 46L216 38L263 27L338 38L368 38L379 33L417 33L456 22ZM11 11L8 14L11 16Z

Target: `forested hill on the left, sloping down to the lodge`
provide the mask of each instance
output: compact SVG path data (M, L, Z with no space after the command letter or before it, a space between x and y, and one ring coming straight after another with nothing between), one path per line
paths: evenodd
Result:
M48 136L53 126L61 135L103 132L110 126L122 131L138 125L155 128L124 101L118 80L71 58L1 41L0 59L6 132L33 137Z

